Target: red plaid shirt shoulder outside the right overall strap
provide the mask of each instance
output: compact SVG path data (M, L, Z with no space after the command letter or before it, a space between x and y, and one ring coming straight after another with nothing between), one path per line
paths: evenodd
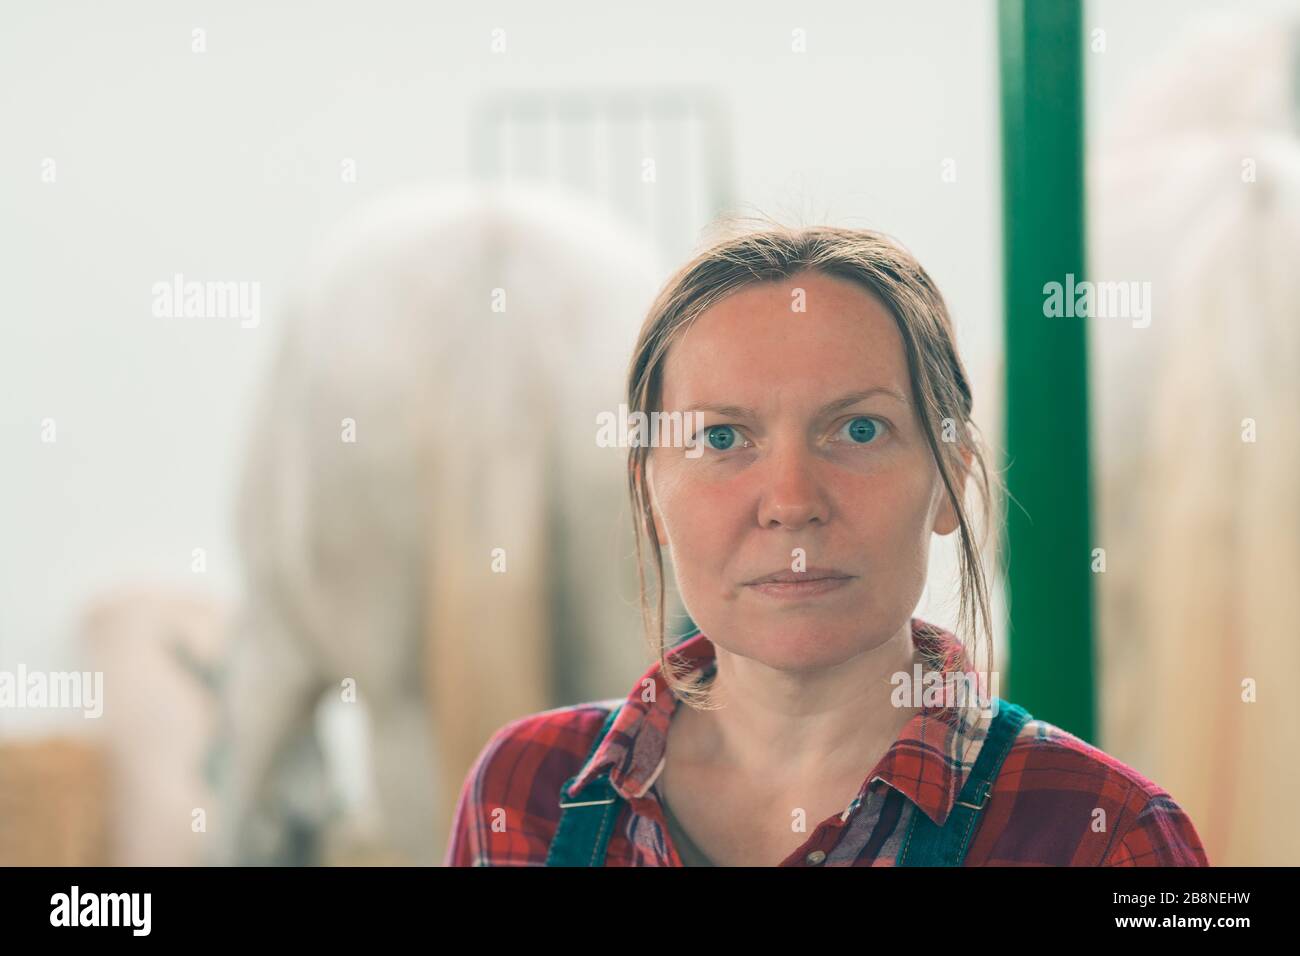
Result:
M1105 750L1031 718L998 773L1062 865L1209 866L1200 835L1169 792ZM1004 803L1008 803L1004 799Z

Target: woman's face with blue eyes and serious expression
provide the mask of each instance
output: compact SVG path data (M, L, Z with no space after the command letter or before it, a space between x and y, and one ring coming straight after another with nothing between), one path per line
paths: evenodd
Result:
M746 286L673 343L662 386L663 410L682 412L688 433L686 412L703 411L703 454L653 447L647 475L659 542L710 640L800 671L907 626L930 536L957 520L881 302L818 272ZM819 568L848 580L803 593L751 584Z

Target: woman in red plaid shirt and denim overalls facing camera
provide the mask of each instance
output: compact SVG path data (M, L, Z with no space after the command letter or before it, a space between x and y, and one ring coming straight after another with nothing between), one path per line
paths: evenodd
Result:
M911 618L931 535L956 531L961 619L992 640L963 501L976 464L987 511L989 476L910 254L853 229L720 239L651 307L628 406L693 421L686 453L628 460L659 662L625 700L502 727L448 865L1209 865L1169 793L962 692L962 643ZM662 546L698 626L671 652Z

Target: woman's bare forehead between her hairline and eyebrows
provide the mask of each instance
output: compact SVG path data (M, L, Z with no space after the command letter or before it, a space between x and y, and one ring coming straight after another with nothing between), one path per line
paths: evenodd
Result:
M800 306L802 290L802 307ZM757 282L705 311L664 358L663 405L783 401L819 406L885 386L910 395L893 315L852 280L800 273Z

